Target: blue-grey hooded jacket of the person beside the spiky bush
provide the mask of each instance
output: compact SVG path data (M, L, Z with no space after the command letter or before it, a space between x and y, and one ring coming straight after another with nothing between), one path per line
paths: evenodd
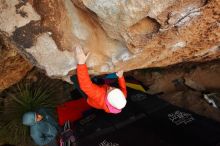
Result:
M37 113L43 116L42 121L35 121L36 112L27 112L23 115L23 124L30 126L30 135L34 142L43 146L56 138L58 125L45 109L40 109Z

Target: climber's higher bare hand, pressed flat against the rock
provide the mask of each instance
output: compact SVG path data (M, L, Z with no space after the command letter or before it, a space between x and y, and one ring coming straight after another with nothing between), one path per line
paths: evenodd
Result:
M78 61L78 64L85 64L85 63L86 63L86 60L87 60L87 58L89 57L89 54L90 54L90 53L88 53L88 54L86 55L86 54L83 52L82 47L77 46L77 47L76 47L75 54L76 54L76 60Z

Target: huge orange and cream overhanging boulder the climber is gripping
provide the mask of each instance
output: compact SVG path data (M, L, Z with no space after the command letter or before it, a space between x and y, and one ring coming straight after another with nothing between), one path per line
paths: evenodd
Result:
M162 67L220 57L219 0L1 0L0 35L51 77Z

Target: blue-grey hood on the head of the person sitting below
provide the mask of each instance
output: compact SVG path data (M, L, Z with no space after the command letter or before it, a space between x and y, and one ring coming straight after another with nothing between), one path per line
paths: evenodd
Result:
M27 112L23 115L22 123L27 126L33 126L36 124L35 121L35 112Z

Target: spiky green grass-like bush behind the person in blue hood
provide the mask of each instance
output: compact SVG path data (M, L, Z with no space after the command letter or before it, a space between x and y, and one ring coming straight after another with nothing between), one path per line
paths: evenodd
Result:
M35 83L22 81L6 91L7 96L0 105L0 144L33 145L29 127L22 124L22 116L25 112L42 107L54 111L56 105L61 102L55 96L59 85L43 78Z

